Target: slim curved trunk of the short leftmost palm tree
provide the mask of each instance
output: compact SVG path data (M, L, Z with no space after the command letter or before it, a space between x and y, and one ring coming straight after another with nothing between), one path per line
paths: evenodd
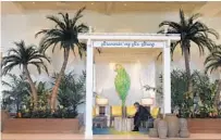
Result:
M33 79L30 78L29 71L27 69L27 65L24 65L23 68L24 68L25 76L27 77L27 80L28 80L29 86L30 86L30 90L33 93L34 111L36 111L37 106L38 106L37 89L35 87L35 84L33 82Z

